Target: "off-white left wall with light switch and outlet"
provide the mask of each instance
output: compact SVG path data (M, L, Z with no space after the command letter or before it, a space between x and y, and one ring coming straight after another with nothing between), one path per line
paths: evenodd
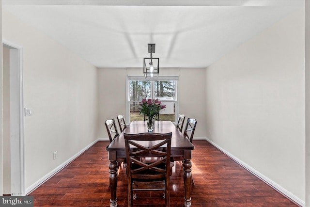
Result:
M96 140L97 69L6 11L3 39L23 47L26 188ZM53 160L53 152L58 159Z

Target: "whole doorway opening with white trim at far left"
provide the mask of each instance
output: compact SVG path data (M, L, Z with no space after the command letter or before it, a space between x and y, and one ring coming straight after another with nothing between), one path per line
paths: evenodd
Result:
M25 195L22 47L3 40L3 194Z

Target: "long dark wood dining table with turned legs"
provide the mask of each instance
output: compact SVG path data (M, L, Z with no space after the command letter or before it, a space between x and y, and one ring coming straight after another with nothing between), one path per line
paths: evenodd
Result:
M126 158L124 133L137 134L147 132L147 121L133 121L125 130L115 138L106 148L109 155L109 182L111 190L110 207L117 207L116 189L117 189L117 171L119 158ZM171 138L171 157L182 157L183 170L184 170L184 206L191 207L191 155L194 145L183 136L183 134L177 129L171 121L155 121L154 133L169 133L172 132Z

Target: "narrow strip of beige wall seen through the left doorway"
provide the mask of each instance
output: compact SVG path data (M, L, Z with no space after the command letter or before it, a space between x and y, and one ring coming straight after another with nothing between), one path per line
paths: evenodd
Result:
M11 194L10 49L3 47L3 194Z

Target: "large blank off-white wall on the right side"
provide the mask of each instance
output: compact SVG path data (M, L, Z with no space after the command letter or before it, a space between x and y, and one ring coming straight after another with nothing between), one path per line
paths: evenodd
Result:
M207 138L305 201L304 11L206 70Z

